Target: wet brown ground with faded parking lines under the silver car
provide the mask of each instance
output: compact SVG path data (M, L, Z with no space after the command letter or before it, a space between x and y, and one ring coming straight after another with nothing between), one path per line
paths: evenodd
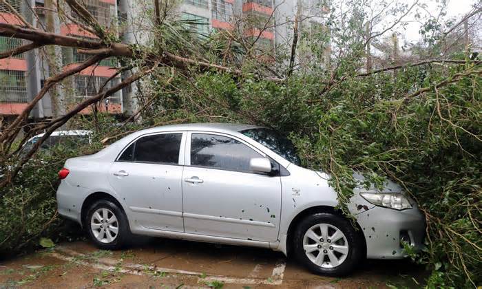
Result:
M56 244L0 259L0 288L417 288L426 277L408 260L368 260L353 275L313 275L260 248L146 238L128 250Z

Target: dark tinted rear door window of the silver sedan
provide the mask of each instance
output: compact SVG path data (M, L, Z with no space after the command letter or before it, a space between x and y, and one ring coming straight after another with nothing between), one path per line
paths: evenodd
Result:
M182 133L144 136L129 145L118 160L178 164L181 139Z

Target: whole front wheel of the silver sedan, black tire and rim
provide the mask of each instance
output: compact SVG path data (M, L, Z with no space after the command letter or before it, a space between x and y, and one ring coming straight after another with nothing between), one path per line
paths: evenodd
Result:
M363 244L353 225L333 213L304 217L293 235L295 258L312 272L333 277L353 271L362 260Z

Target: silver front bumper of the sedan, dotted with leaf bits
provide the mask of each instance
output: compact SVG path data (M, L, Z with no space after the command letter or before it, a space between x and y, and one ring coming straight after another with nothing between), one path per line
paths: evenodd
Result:
M423 248L425 218L417 207L397 211L375 206L356 217L365 236L366 257L369 259L406 257L401 239L415 250Z

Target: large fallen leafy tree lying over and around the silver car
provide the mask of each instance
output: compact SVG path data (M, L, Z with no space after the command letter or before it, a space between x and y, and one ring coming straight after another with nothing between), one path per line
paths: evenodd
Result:
M416 256L409 247L406 250L432 270L429 286L479 285L482 68L481 59L473 55L470 46L457 46L464 22L457 22L446 30L430 26L426 33L430 35L427 47L420 49L416 57L388 63L380 61L379 67L372 69L375 57L367 52L367 46L381 39L419 3L414 1L413 5L397 8L395 14L400 17L395 23L366 35L362 33L366 21L372 23L368 27L374 29L377 15L384 10L373 11L373 17L360 18L360 15L366 16L362 12L370 1L348 2L350 10L336 10L343 12L331 19L330 39L335 51L329 65L319 62L324 57L326 47L321 44L326 35L314 37L313 42L308 43L318 61L311 58L303 62L296 55L307 45L300 30L297 39L287 43L292 52L286 57L287 69L260 61L250 50L252 45L235 32L216 34L207 40L189 38L182 25L175 28L174 22L164 22L163 17L155 17L155 25L151 26L156 36L154 43L125 45L115 34L95 23L92 15L73 0L66 1L67 5L87 23L87 30L96 34L98 41L45 32L27 23L0 24L1 35L32 42L0 57L52 45L76 47L91 55L78 67L49 78L28 108L1 132L0 158L12 164L12 169L0 184L0 206L14 216L19 212L20 215L25 211L34 212L39 204L45 204L42 206L45 214L32 214L38 218L43 216L41 220L45 222L29 223L19 218L9 223L6 220L0 234L5 236L0 239L0 248L24 248L40 234L55 236L52 226L41 225L57 222L55 188L50 184L55 178L55 169L40 170L41 182L36 183L36 171L43 165L29 160L36 160L35 153L41 143L67 122L75 127L80 118L83 127L96 131L94 148L84 148L78 153L91 153L100 149L101 144L143 127L196 121L250 122L290 132L304 164L334 176L331 184L337 190L342 208L353 193L353 170L361 171L375 184L384 178L402 184L426 213L426 252ZM480 11L476 6L462 20L476 22ZM163 14L160 12L160 16ZM293 29L301 27L294 25ZM63 116L34 124L29 133L17 141L30 111L49 89L108 57L122 59L127 65L118 67L117 73L132 70L132 76L110 89L101 87L98 94L77 103ZM368 63L368 58L372 58L372 64L367 65L370 69L362 71L360 67L365 61ZM280 56L280 62L283 59ZM143 122L125 122L117 127L104 119L107 116L101 115L100 120L91 122L78 116L85 107L139 80L143 81L139 96L143 105L135 114L141 116ZM43 130L47 132L45 136L30 151L20 155L21 145ZM52 164L61 166L63 157L72 155L72 152L63 153L52 160ZM28 181L19 180L19 173L28 174ZM23 195L36 197L23 198ZM27 217L27 220L33 219ZM32 230L33 224L42 229ZM23 235L12 239L11 232L16 226L24 228ZM25 233L28 228L33 233Z

